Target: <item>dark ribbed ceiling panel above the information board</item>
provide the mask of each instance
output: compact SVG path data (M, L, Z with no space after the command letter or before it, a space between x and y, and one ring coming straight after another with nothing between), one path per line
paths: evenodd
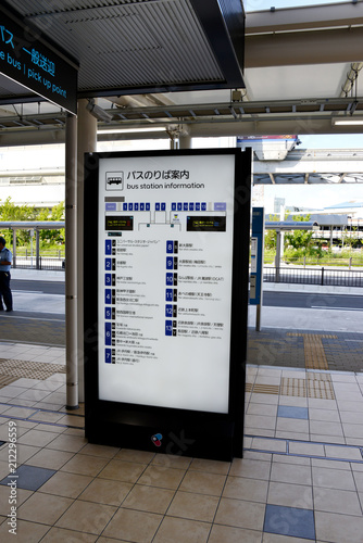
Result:
M239 0L227 4L243 20ZM230 87L230 74L226 74L230 64L242 86L242 66L224 20L228 9L224 7L222 13L217 0L209 0L209 20L203 5L200 0L11 1L27 24L79 64L78 96L88 97L110 96L110 90L122 94L139 89ZM221 42L224 39L223 47L229 47L224 65L211 30Z

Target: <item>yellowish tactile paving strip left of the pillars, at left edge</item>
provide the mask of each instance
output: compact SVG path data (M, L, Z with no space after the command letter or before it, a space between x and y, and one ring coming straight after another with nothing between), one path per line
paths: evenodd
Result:
M0 359L0 377L4 379L13 377L13 381L15 381L21 377L25 377L45 380L54 374L65 374L65 366L45 362ZM9 382L1 384L1 387L5 384L9 384Z

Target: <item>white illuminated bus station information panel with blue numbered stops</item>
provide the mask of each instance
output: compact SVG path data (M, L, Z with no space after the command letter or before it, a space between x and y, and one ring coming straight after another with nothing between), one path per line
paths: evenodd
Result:
M228 413L235 156L100 159L99 399Z

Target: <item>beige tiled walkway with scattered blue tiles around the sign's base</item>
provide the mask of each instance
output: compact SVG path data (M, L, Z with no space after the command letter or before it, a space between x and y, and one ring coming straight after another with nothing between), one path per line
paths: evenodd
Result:
M64 348L2 341L0 541L362 543L362 334L268 313L256 332L250 311L231 463L88 443L84 405L65 407Z

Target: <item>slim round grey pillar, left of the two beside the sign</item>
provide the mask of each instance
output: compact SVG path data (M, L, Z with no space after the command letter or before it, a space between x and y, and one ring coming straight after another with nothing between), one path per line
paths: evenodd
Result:
M66 407L78 407L77 348L77 118L65 125L65 361Z

